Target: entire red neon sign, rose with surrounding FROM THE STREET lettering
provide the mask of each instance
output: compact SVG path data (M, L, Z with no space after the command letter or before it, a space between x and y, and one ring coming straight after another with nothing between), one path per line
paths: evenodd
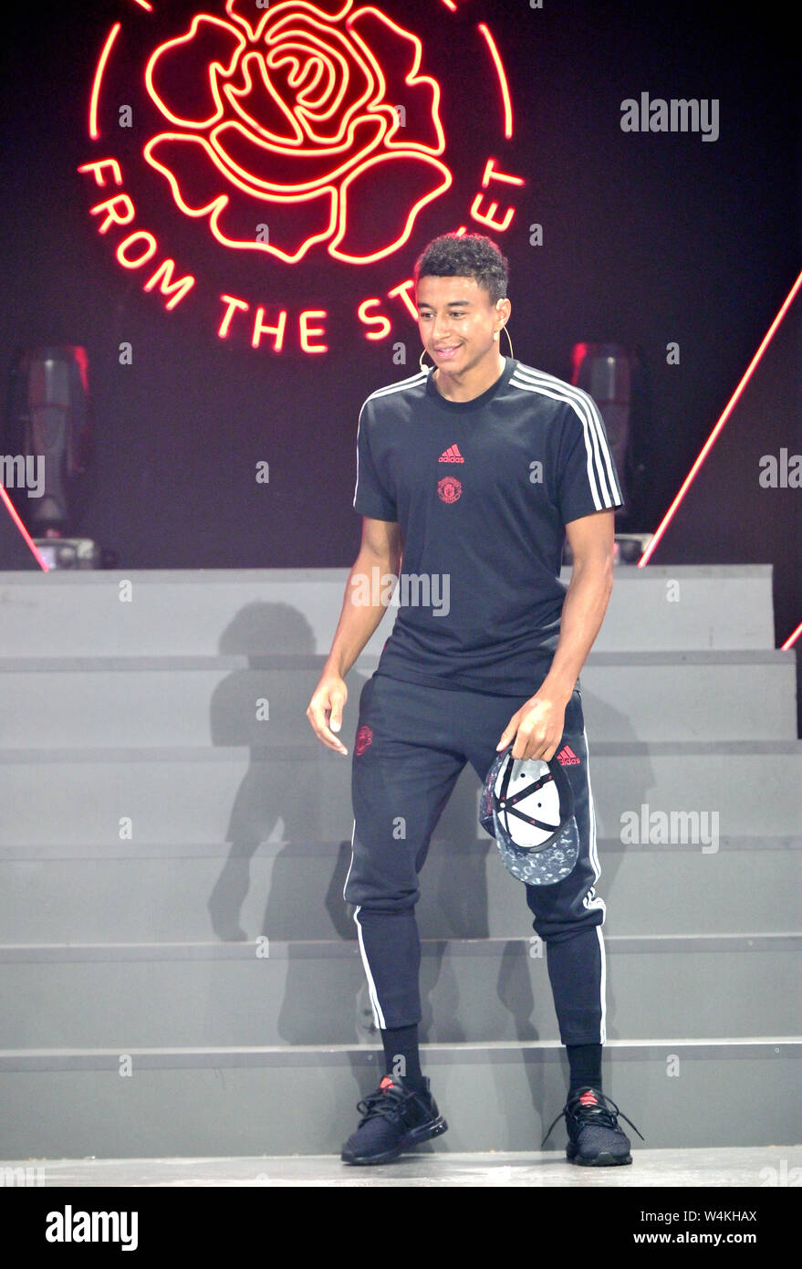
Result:
M133 3L154 13L148 0ZM440 3L452 13L458 9L458 0ZM194 14L174 27L179 29L152 47L143 66L147 99L161 127L148 136L142 157L165 181L174 208L204 226L217 249L284 265L313 263L325 250L344 264L369 265L402 247L421 209L452 187L442 90L421 71L423 42L373 5L226 0L220 15ZM89 136L98 145L104 142L102 89L121 29L122 23L112 27L95 69ZM504 67L487 25L477 29L500 84L509 138ZM195 291L195 273L161 258L156 233L140 226L122 160L105 152L79 171L104 192L89 211L98 232L117 240L118 264L141 270L143 289L157 292L168 310L184 303ZM523 178L487 157L476 184L470 220L483 232L505 232L515 216L509 195ZM508 203L501 213L499 184ZM382 214L371 214L372 208ZM392 306L386 310L386 301L416 316L411 287L407 278L385 298L368 296L357 306L367 339L390 335ZM250 334L254 348L283 350L286 307L269 311L225 291L218 303L221 339L236 326ZM324 308L298 313L305 352L327 352L327 317Z

